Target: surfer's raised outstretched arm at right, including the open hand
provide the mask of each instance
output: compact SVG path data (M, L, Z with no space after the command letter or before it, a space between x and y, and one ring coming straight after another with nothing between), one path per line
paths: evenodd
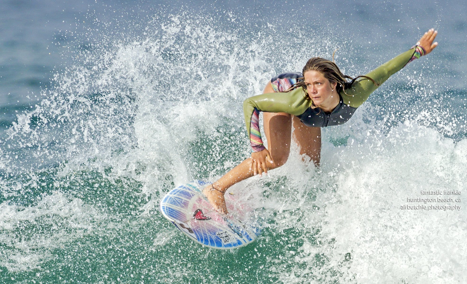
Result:
M344 103L349 104L352 107L359 107L368 99L374 90L376 90L390 76L407 65L407 63L432 52L432 50L438 46L438 42L433 43L437 34L438 31L430 29L422 36L420 41L417 42L416 46L400 55L397 55L393 59L366 74L366 76L375 80L377 84L364 77L355 81L350 89L345 90L347 96L342 94Z

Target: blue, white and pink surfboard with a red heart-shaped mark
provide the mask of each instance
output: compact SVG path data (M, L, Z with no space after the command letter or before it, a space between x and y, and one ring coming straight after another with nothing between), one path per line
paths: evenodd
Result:
M253 242L259 227L249 220L253 210L226 194L228 215L220 215L202 193L208 182L193 180L172 189L161 200L165 218L191 240L213 249L233 249Z

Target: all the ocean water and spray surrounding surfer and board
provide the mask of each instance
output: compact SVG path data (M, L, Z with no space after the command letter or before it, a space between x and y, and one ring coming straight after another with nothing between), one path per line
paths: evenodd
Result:
M466 283L466 4L4 1L1 283ZM272 76L336 48L365 74L431 27L432 54L322 129L320 168L292 145L230 189L255 242L208 249L163 218L171 188L248 157L242 101ZM461 194L407 201L436 190Z

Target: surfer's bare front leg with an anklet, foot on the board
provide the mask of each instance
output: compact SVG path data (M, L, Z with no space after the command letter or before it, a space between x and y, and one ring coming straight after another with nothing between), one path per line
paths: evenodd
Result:
M268 83L263 93L272 93L274 90L271 84ZM291 115L285 112L263 113L263 124L266 139L268 140L268 150L271 154L274 164L266 161L268 170L282 166L289 157L290 152L290 137L291 137ZM212 186L207 186L203 190L208 201L220 213L226 214L226 201L224 193L227 188L235 183L248 179L253 176L253 170L250 170L251 158L245 159L240 165L235 166L232 170L223 175L219 180L214 182Z

